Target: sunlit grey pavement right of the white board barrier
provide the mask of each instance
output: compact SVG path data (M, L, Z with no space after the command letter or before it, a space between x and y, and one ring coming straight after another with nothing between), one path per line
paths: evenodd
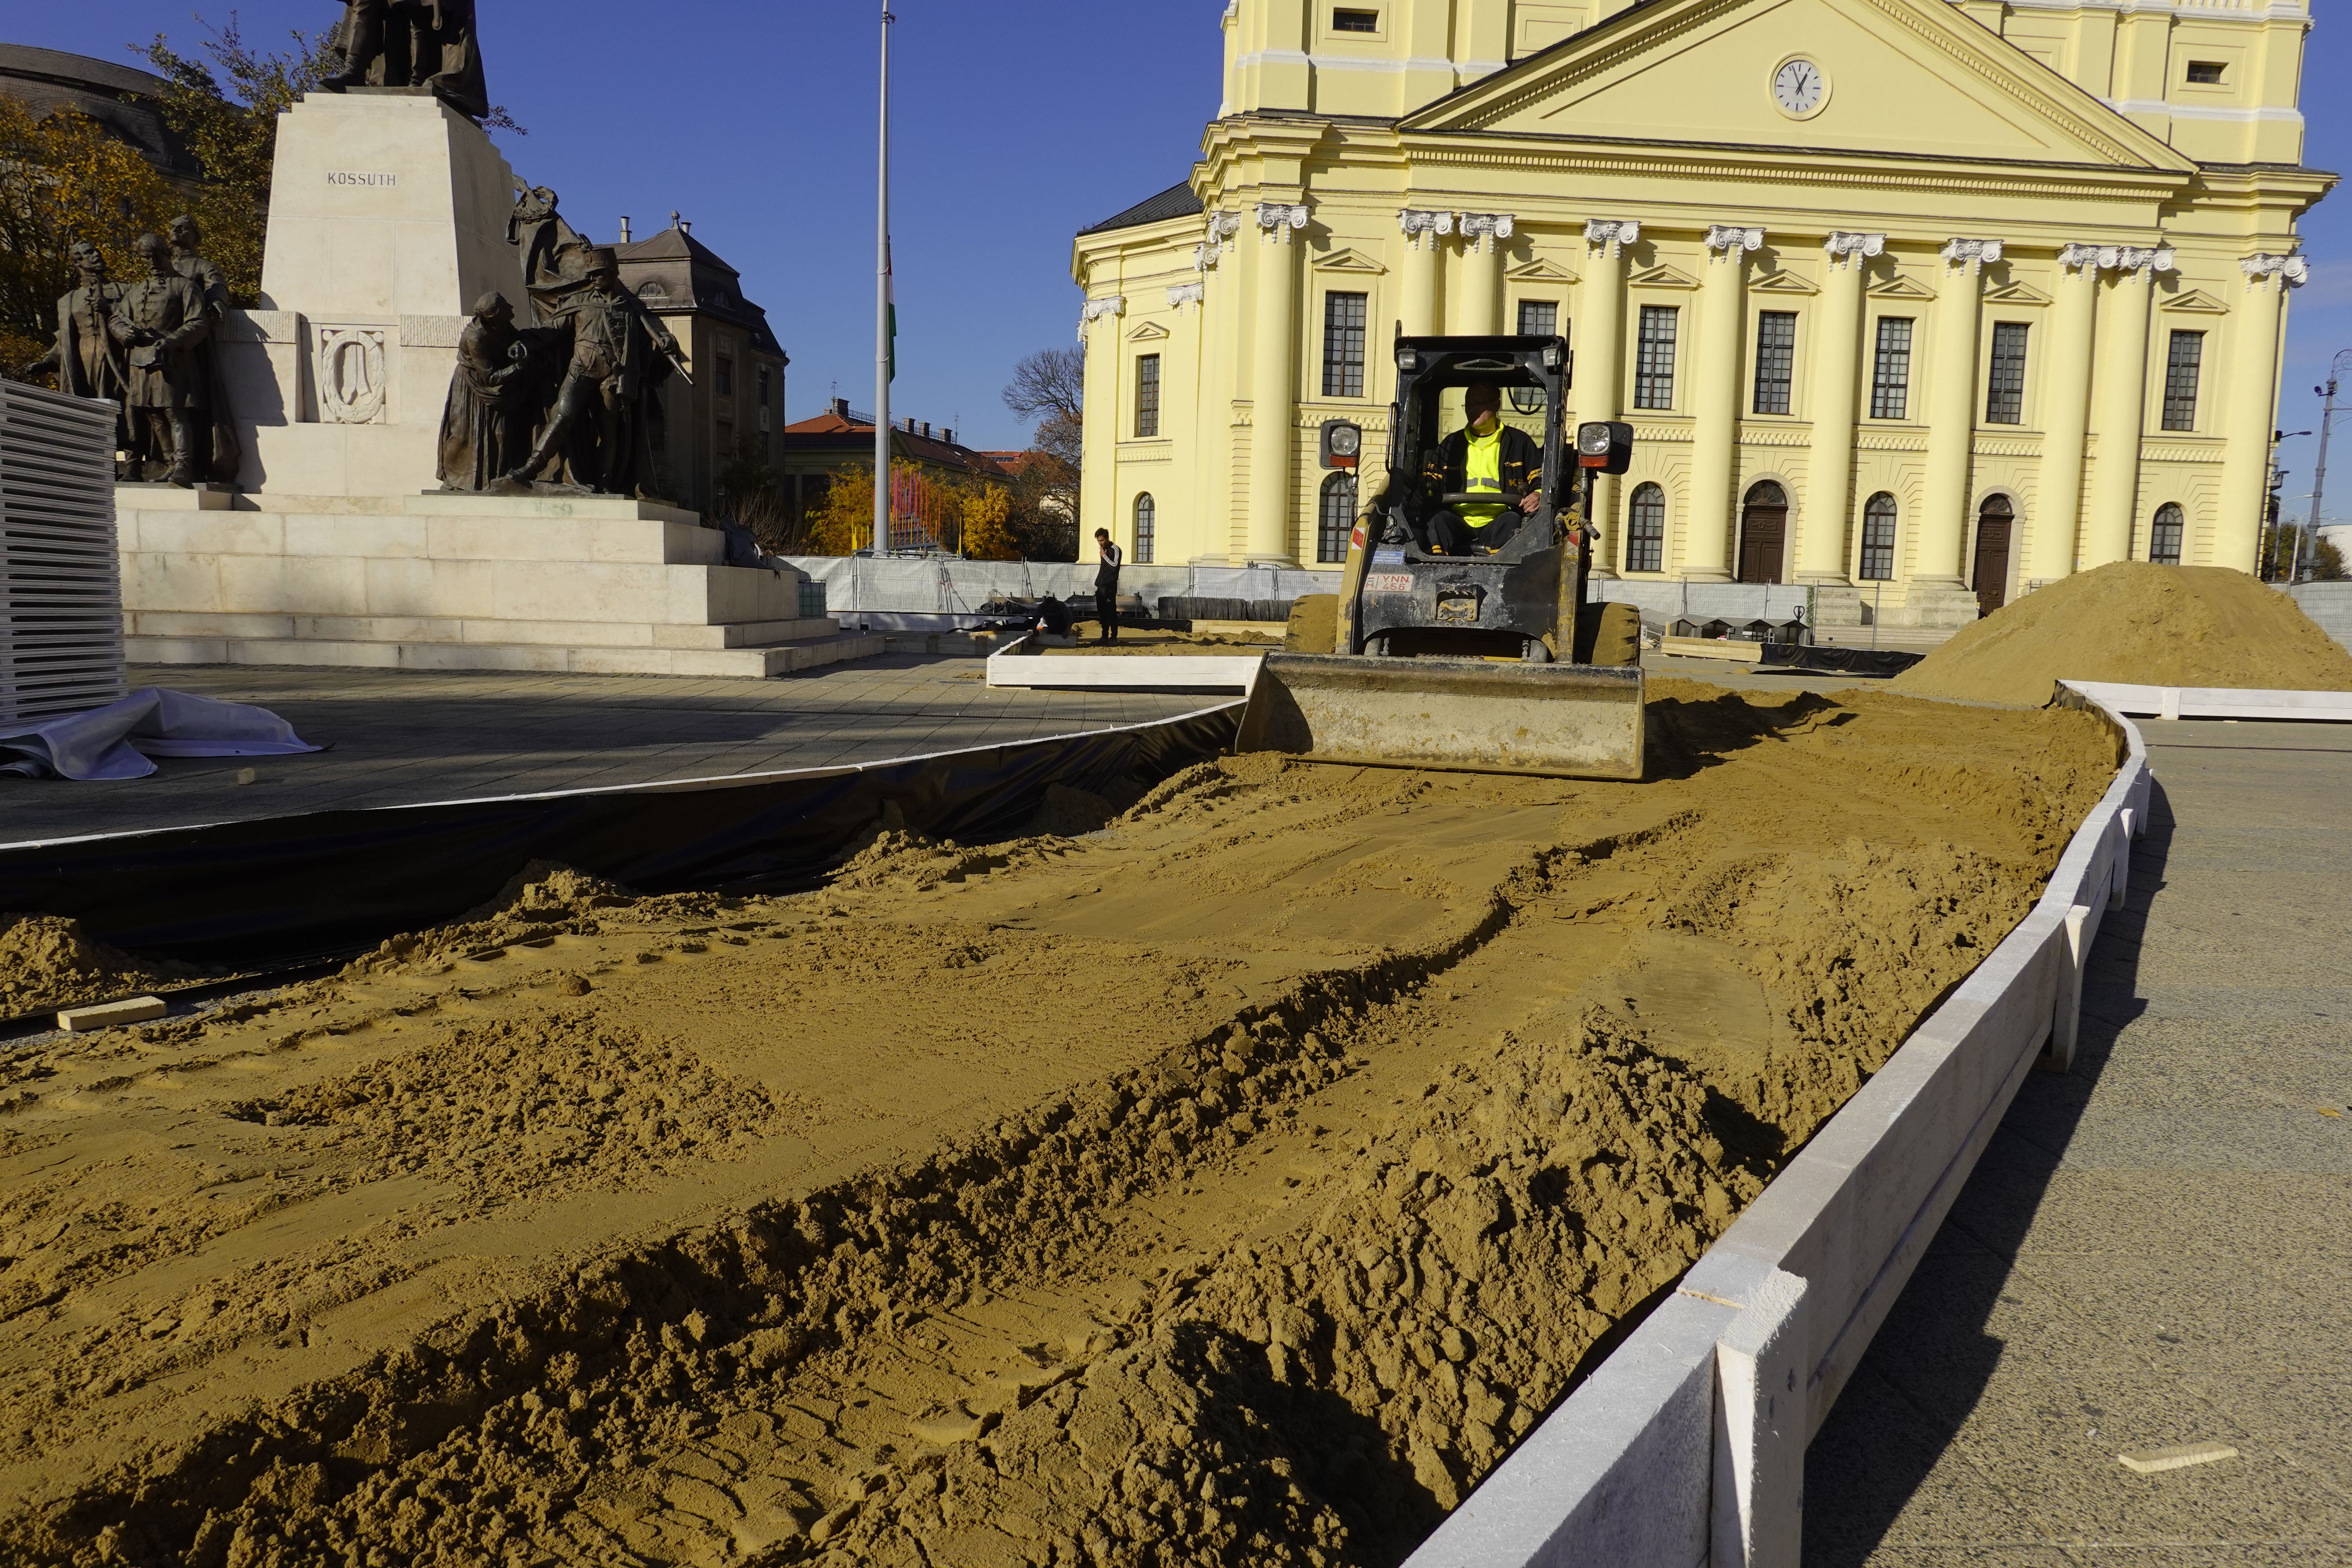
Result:
M2352 726L2143 722L2082 1048L1806 1455L1809 1568L2352 1563ZM2119 1453L2239 1458L2140 1476Z

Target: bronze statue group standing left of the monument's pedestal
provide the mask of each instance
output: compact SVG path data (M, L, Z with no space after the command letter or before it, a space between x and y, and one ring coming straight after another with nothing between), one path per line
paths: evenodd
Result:
M75 287L56 301L49 353L24 367L54 374L75 397L108 397L115 414L118 477L172 484L233 484L238 421L216 350L228 315L228 280L200 249L193 216L172 219L172 237L139 235L143 273L106 275L106 259L75 240L66 259Z

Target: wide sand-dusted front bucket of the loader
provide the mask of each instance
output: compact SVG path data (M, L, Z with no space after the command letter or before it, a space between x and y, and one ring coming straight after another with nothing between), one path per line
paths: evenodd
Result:
M1268 654L1235 750L1470 773L1642 778L1642 670Z

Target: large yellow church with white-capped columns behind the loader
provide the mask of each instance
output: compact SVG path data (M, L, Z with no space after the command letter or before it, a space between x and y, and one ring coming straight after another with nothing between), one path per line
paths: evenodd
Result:
M1082 510L1336 564L1390 336L1557 331L1625 578L1955 625L2251 569L2307 0L1232 0L1192 176L1077 235Z

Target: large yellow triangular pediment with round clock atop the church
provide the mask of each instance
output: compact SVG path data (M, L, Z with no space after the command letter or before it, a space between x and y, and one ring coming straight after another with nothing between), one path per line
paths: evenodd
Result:
M1790 61L1825 89L1790 113ZM1404 118L1406 132L2194 172L1947 0L1649 0Z

